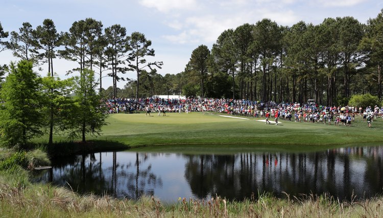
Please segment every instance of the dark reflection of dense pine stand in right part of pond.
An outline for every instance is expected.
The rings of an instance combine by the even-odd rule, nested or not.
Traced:
[[[201,199],[250,198],[252,193],[330,194],[350,200],[382,193],[382,147],[315,153],[240,153],[184,155],[185,178]]]

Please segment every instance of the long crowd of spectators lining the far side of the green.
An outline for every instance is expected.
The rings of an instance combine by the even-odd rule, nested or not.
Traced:
[[[383,117],[383,107],[323,106],[315,103],[276,103],[239,99],[216,98],[113,98],[105,100],[108,113],[135,113],[139,111],[188,113],[217,112],[234,116],[264,118],[270,117],[295,121],[335,125],[351,125],[355,115],[363,116],[364,121]],[[276,113],[278,113],[277,116]]]

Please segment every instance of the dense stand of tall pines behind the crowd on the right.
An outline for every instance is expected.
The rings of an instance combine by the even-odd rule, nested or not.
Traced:
[[[383,10],[362,24],[353,17],[281,26],[270,19],[221,33],[193,50],[183,72],[142,74],[144,92],[276,102],[346,105],[354,94],[382,98]],[[119,90],[132,96],[135,83]],[[111,90],[106,90],[109,94]]]

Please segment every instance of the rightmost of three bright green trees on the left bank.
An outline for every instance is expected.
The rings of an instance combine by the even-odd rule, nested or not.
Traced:
[[[97,86],[94,72],[83,69],[82,76],[76,79],[74,103],[66,115],[69,137],[73,139],[81,135],[83,143],[86,142],[86,134],[99,134],[101,127],[106,124],[105,108],[95,92]]]

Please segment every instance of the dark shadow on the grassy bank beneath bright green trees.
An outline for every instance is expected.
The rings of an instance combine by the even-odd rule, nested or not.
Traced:
[[[121,142],[106,140],[91,140],[82,142],[56,142],[53,145],[38,144],[36,148],[46,151],[50,156],[68,156],[100,151],[126,150],[130,146]]]

